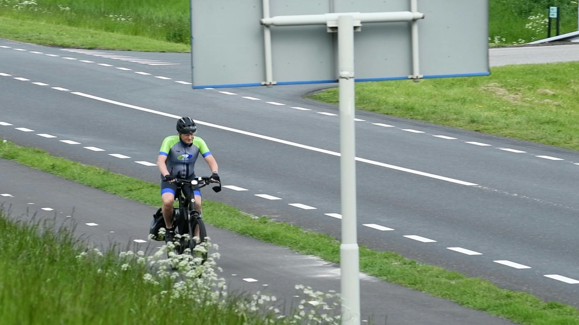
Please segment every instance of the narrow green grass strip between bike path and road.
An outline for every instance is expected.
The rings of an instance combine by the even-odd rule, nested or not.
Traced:
[[[160,206],[159,185],[83,165],[43,150],[0,144],[0,157],[121,197]],[[204,201],[204,219],[217,227],[339,262],[340,243],[329,235],[302,230],[267,217],[251,216],[218,202]],[[559,302],[544,302],[529,293],[500,289],[489,281],[408,260],[398,254],[360,246],[360,270],[389,282],[447,298],[522,324],[579,324],[579,310]]]

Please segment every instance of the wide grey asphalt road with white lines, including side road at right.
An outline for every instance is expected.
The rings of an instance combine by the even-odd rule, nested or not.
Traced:
[[[12,124],[0,125],[3,138],[155,182],[157,168],[142,164],[155,162],[175,117],[190,115],[225,184],[244,189],[207,198],[339,237],[338,112],[299,97],[320,86],[193,91],[187,54],[98,54],[180,63],[149,65],[0,46],[0,121]],[[545,49],[491,50],[491,63],[579,60],[576,45]],[[579,305],[576,152],[363,111],[357,118],[360,243]]]

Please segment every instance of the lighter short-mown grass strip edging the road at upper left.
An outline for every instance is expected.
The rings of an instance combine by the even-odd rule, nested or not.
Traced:
[[[145,36],[124,35],[0,16],[0,37],[39,45],[155,52],[190,52],[190,46]]]

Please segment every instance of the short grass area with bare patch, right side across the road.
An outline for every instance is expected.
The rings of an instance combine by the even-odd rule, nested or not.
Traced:
[[[579,62],[492,75],[356,84],[356,108],[579,150]],[[338,103],[338,88],[307,97]]]

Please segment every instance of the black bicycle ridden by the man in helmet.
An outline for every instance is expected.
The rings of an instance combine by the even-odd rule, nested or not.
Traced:
[[[188,179],[175,179],[175,184],[177,184],[177,191],[175,191],[175,201],[178,201],[177,208],[174,209],[171,224],[175,227],[175,239],[179,237],[179,243],[175,245],[173,249],[175,254],[182,254],[189,249],[189,254],[193,258],[201,257],[201,265],[207,261],[207,252],[199,253],[194,249],[201,242],[206,242],[207,231],[205,229],[205,224],[203,223],[203,218],[201,213],[195,209],[195,196],[193,195],[193,190],[205,187],[210,183],[218,183],[218,186],[212,187],[215,193],[221,191],[221,181],[212,182],[210,177],[196,177],[193,180]],[[182,188],[184,186],[190,186],[190,191],[188,197],[184,197]],[[199,233],[199,241],[194,238],[195,233]],[[189,238],[185,238],[185,235],[189,235]],[[167,257],[169,257],[169,252],[167,252]]]

